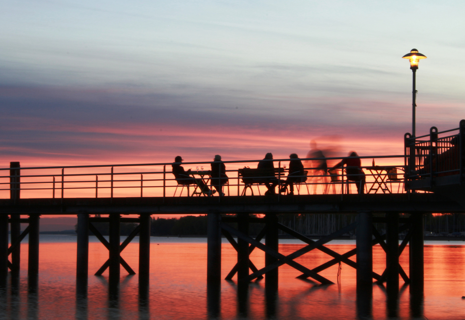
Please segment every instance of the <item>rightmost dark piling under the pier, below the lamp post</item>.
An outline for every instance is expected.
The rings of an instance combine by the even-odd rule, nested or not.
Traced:
[[[412,238],[410,238],[410,292],[423,294],[424,280],[424,258],[423,258],[423,214],[413,213],[412,219]]]

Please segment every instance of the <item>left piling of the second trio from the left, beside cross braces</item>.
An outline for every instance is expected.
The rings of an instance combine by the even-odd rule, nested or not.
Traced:
[[[89,273],[89,215],[78,213],[76,293],[86,296]]]

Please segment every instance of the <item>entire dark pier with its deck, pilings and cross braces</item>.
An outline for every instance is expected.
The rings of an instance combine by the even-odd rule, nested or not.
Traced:
[[[17,282],[20,269],[20,243],[21,240],[29,235],[28,246],[28,287],[29,291],[37,292],[38,275],[40,272],[39,266],[39,230],[40,216],[43,215],[77,215],[77,265],[76,265],[76,292],[80,299],[86,297],[87,279],[89,277],[88,259],[89,259],[89,231],[99,238],[103,245],[108,249],[108,260],[99,270],[91,271],[95,275],[101,275],[107,268],[109,269],[109,293],[111,299],[118,298],[118,286],[120,282],[120,266],[129,274],[135,274],[131,266],[121,258],[122,252],[126,246],[133,240],[136,235],[139,235],[139,280],[140,280],[140,297],[148,297],[148,281],[149,281],[149,266],[150,266],[150,216],[151,214],[173,214],[173,213],[191,213],[191,214],[206,214],[208,220],[208,245],[207,245],[207,300],[208,307],[212,314],[219,312],[219,292],[222,279],[221,275],[221,237],[228,239],[234,249],[237,251],[237,263],[231,266],[231,272],[228,273],[226,279],[232,279],[237,274],[238,277],[238,292],[240,299],[246,299],[248,283],[254,279],[265,278],[265,287],[267,299],[272,300],[278,289],[279,273],[278,268],[284,264],[292,266],[301,274],[298,278],[311,278],[312,281],[318,282],[321,285],[331,285],[333,282],[326,279],[319,272],[338,263],[345,263],[348,266],[356,269],[357,275],[357,296],[358,310],[360,316],[367,316],[371,313],[371,297],[373,281],[386,286],[388,296],[388,309],[395,310],[395,305],[399,296],[399,275],[403,281],[410,286],[412,299],[422,299],[424,288],[424,227],[423,215],[427,213],[465,213],[464,203],[457,195],[463,195],[463,155],[465,154],[463,132],[465,131],[465,122],[460,123],[458,128],[459,133],[455,136],[438,136],[440,132],[432,130],[426,141],[419,138],[410,138],[406,136],[405,143],[405,163],[398,167],[404,170],[405,178],[392,179],[397,183],[402,183],[403,188],[398,188],[399,192],[394,192],[386,184],[386,180],[382,180],[384,185],[375,180],[373,185],[377,184],[381,188],[371,188],[376,190],[375,193],[357,194],[349,193],[349,180],[344,180],[344,171],[341,172],[342,180],[340,180],[340,192],[333,194],[299,194],[299,195],[254,195],[243,196],[239,195],[242,187],[245,193],[247,188],[252,188],[250,180],[241,184],[239,170],[237,184],[230,183],[228,187],[236,186],[237,195],[232,195],[228,192],[227,196],[198,196],[194,197],[189,194],[184,197],[167,196],[167,189],[172,187],[178,188],[176,184],[169,185],[175,179],[167,177],[170,171],[166,171],[167,163],[153,164],[154,166],[162,167],[163,171],[152,170],[145,175],[162,175],[163,178],[143,179],[143,174],[140,172],[125,172],[116,173],[114,168],[116,165],[100,166],[102,168],[110,168],[110,173],[69,173],[64,174],[65,169],[79,168],[66,167],[61,169],[61,180],[56,181],[55,173],[39,175],[22,175],[23,170],[54,170],[56,167],[47,168],[20,168],[20,163],[12,162],[10,165],[9,174],[3,178],[9,179],[10,197],[0,199],[0,289],[7,287],[8,270],[11,271],[11,279]],[[445,131],[446,133],[451,130]],[[443,139],[439,141],[440,139]],[[454,140],[455,139],[455,140]],[[458,142],[460,148],[457,149]],[[429,143],[429,144],[428,144]],[[448,149],[445,145],[448,144]],[[418,146],[421,144],[420,146]],[[432,165],[435,163],[433,157],[439,159],[440,154],[438,148],[447,150],[455,150],[459,161],[456,163],[458,167],[450,165],[443,166],[441,170],[434,171]],[[429,148],[429,152],[425,152]],[[455,149],[454,149],[455,148]],[[412,155],[413,154],[413,155]],[[371,157],[369,157],[371,158]],[[426,159],[429,160],[426,162]],[[403,159],[403,160],[404,160]],[[455,159],[455,158],[454,158]],[[310,159],[311,160],[311,159]],[[276,160],[280,161],[285,159]],[[451,160],[452,161],[452,160]],[[233,163],[233,162],[229,162]],[[436,162],[438,163],[438,162]],[[239,162],[239,164],[241,164]],[[139,165],[142,166],[142,165]],[[83,170],[90,166],[82,167]],[[436,165],[438,167],[438,165]],[[94,167],[95,168],[95,167]],[[420,169],[419,169],[420,168]],[[428,171],[429,170],[429,171]],[[436,169],[437,170],[437,169]],[[230,170],[234,171],[234,170]],[[280,175],[280,170],[278,170]],[[446,175],[445,175],[446,173]],[[114,179],[114,176],[119,174],[132,175],[130,179],[121,180]],[[135,180],[132,177],[135,174],[140,174],[141,178]],[[385,175],[389,178],[389,173]],[[95,176],[95,197],[65,197],[64,192],[75,189],[91,189],[89,184],[93,184],[90,180],[72,180],[73,186],[66,187],[66,177],[88,177]],[[111,176],[110,179],[99,181],[99,175]],[[458,176],[458,177],[457,177]],[[53,177],[53,186],[50,181],[44,179]],[[378,179],[378,176],[375,178]],[[385,178],[386,178],[385,177]],[[445,183],[444,177],[448,177],[449,184]],[[33,179],[39,179],[34,182]],[[27,179],[27,181],[25,181]],[[381,177],[381,179],[384,179]],[[22,181],[21,181],[22,180]],[[121,188],[132,188],[132,183],[140,182],[139,197],[115,197],[114,189],[118,188],[117,183],[124,182]],[[144,181],[156,181],[158,184],[144,186]],[[321,182],[319,184],[330,183]],[[384,182],[383,182],[384,181]],[[434,182],[438,183],[434,183]],[[109,186],[102,186],[102,183],[109,183]],[[28,188],[31,184],[44,184],[46,187],[41,190],[53,191],[53,197],[42,198],[21,198],[20,192],[23,190],[37,190],[40,188]],[[82,187],[76,187],[76,184],[81,183]],[[111,183],[111,184],[110,184]],[[248,185],[247,185],[248,183]],[[59,187],[56,187],[59,184]],[[100,184],[100,187],[99,187]],[[310,182],[312,184],[312,182]],[[376,186],[376,185],[375,185]],[[384,188],[384,186],[386,188]],[[455,193],[441,192],[441,186],[455,190]],[[144,188],[162,188],[162,194],[156,197],[143,197]],[[260,186],[257,186],[260,188]],[[109,197],[98,197],[100,189],[110,189]],[[322,190],[328,190],[324,187]],[[334,184],[333,184],[334,189]],[[258,189],[260,191],[260,189]],[[307,189],[308,190],[308,189]],[[335,190],[335,189],[334,189]],[[382,193],[378,192],[383,191]],[[386,192],[389,191],[389,192]],[[55,197],[56,193],[61,197]],[[424,192],[427,191],[427,192]],[[182,192],[182,191],[181,191]],[[195,190],[193,191],[196,192]],[[308,192],[309,193],[309,192]],[[197,192],[199,195],[199,192]],[[331,234],[312,240],[306,235],[292,230],[286,225],[280,224],[277,218],[278,214],[289,213],[321,213],[321,214],[357,214],[355,222],[345,225],[340,230],[334,231]],[[106,214],[107,218],[91,217],[91,215]],[[138,218],[124,217],[128,214],[137,214]],[[261,218],[252,217],[251,214],[259,214]],[[21,218],[27,215],[28,218]],[[104,238],[95,228],[93,223],[105,222],[109,224],[109,241]],[[133,222],[138,223],[137,228],[126,238],[123,243],[120,243],[120,223]],[[256,238],[252,238],[249,234],[250,224],[259,223],[263,225],[263,229],[259,232]],[[379,234],[373,224],[384,224],[385,234]],[[20,232],[20,224],[27,224],[25,230]],[[10,228],[9,228],[10,226]],[[235,227],[237,226],[237,227]],[[11,245],[8,246],[8,231],[11,230]],[[278,250],[278,234],[283,231],[301,241],[306,246],[292,252],[288,255],[283,255]],[[343,234],[355,231],[356,248],[339,254],[325,246],[332,239],[338,238]],[[399,232],[406,232],[406,236],[399,245]],[[261,240],[265,239],[265,243]],[[237,239],[237,240],[236,240]],[[372,246],[381,245],[386,254],[386,268],[382,274],[373,272],[373,256]],[[399,264],[399,256],[404,251],[406,245],[410,247],[410,259],[408,270]],[[265,252],[265,267],[258,269],[249,259],[249,255],[253,250],[262,250]],[[308,269],[295,261],[296,258],[310,252],[312,250],[320,250],[332,257],[331,260],[313,269]],[[11,255],[11,261],[9,256]],[[356,256],[356,262],[349,259]],[[374,280],[373,280],[374,279]],[[12,286],[13,288],[14,286]],[[412,301],[413,301],[412,300]],[[418,301],[417,301],[418,302]],[[239,303],[240,305],[240,303]]]

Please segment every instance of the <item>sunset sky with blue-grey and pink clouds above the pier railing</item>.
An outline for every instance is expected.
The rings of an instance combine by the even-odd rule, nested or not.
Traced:
[[[462,1],[7,1],[1,167],[403,153],[465,118]]]

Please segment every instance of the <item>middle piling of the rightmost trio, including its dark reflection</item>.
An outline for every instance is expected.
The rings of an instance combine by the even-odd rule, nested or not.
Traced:
[[[399,297],[399,213],[386,214],[386,292],[387,315],[397,317]]]

